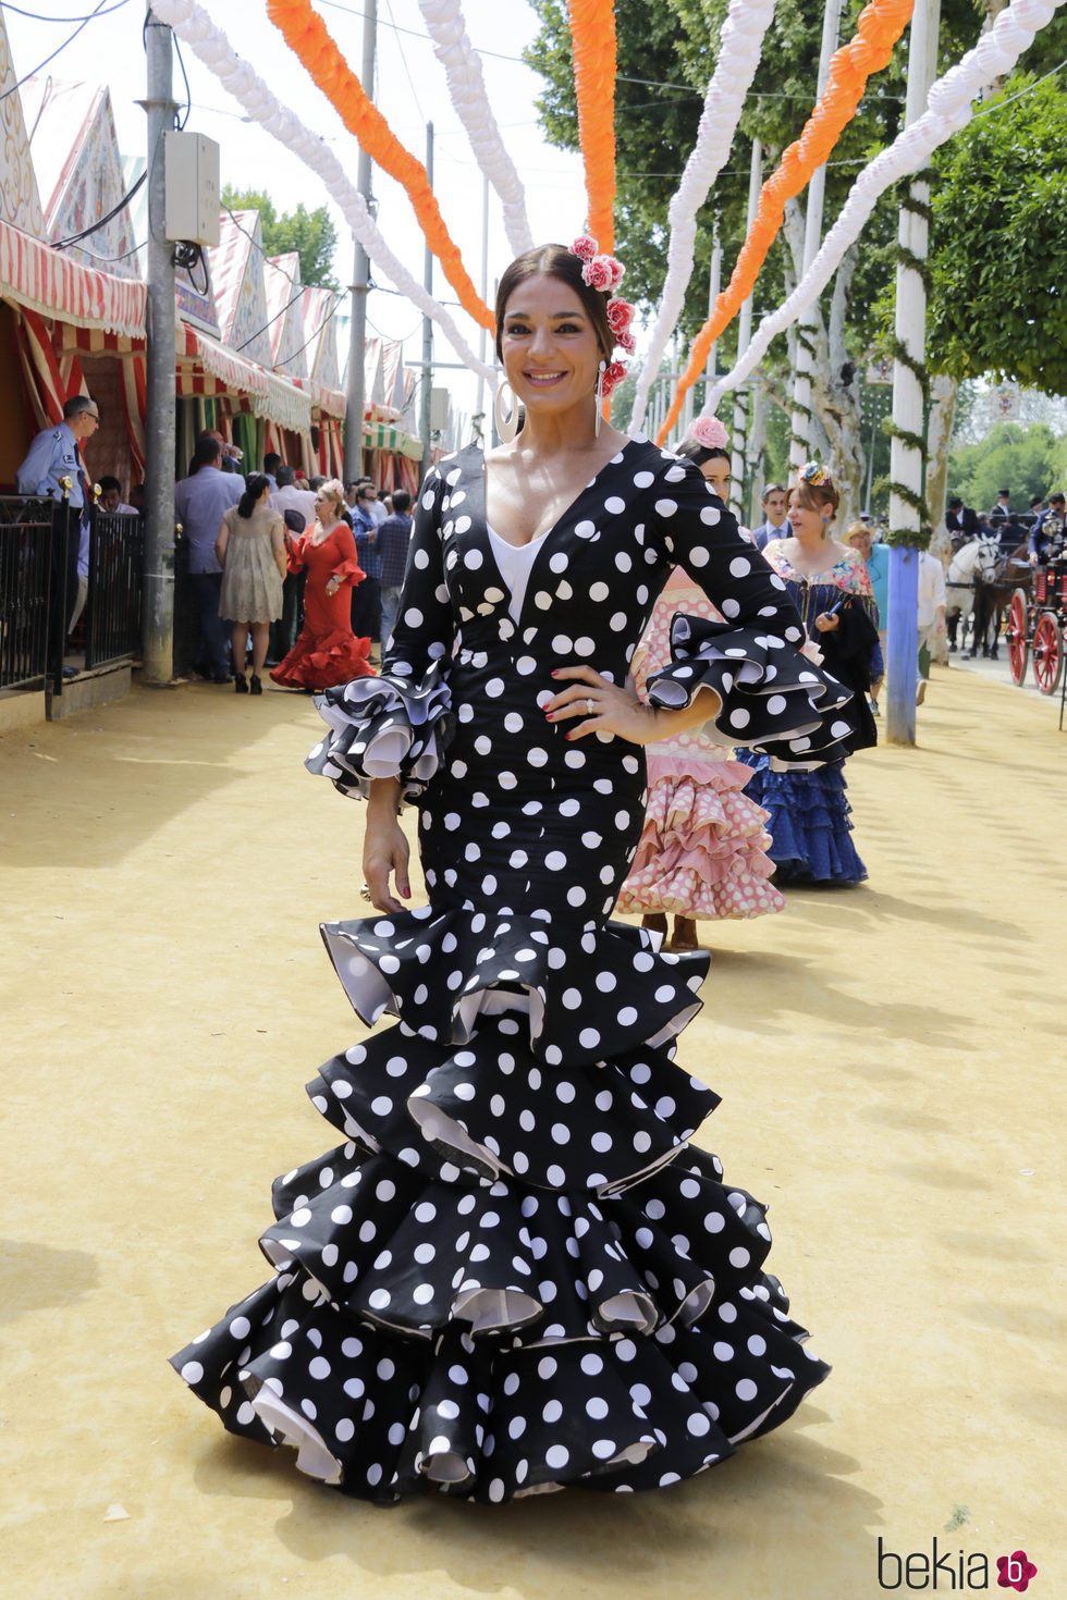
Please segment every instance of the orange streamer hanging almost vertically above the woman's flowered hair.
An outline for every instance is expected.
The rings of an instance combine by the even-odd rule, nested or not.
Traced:
[[[577,98],[577,139],[585,163],[587,229],[614,250],[614,3],[568,0]]]

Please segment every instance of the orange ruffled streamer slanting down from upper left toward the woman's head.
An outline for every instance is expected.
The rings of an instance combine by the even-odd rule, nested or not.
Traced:
[[[459,304],[477,323],[494,331],[493,312],[475,290],[459,250],[445,227],[426,166],[405,150],[379,109],[363,91],[363,85],[333,42],[330,30],[309,0],[267,0],[267,16],[280,30],[290,50],[302,61],[318,88],[339,114],[360,149],[378,162],[382,171],[403,184],[426,234],[426,242],[456,290]]]

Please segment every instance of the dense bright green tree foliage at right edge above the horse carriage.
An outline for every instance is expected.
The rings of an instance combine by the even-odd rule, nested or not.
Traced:
[[[1067,94],[1032,83],[1013,77],[939,155],[926,350],[953,378],[1067,394]]]

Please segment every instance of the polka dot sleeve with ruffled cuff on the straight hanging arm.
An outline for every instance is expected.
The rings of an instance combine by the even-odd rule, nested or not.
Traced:
[[[304,763],[341,794],[366,798],[374,778],[400,778],[416,800],[442,763],[453,733],[448,666],[453,614],[442,562],[443,480],[432,469],[411,531],[408,570],[381,675],[354,678],[315,696],[330,733]]]

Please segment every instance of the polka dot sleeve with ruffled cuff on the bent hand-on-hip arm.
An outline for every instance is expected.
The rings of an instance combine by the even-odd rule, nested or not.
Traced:
[[[782,579],[689,462],[665,458],[646,493],[648,534],[725,618],[673,618],[670,666],[648,678],[651,704],[680,709],[712,688],[723,702],[715,726],[726,742],[782,768],[841,760],[853,731],[841,710],[849,691],[801,656],[805,629]]]

